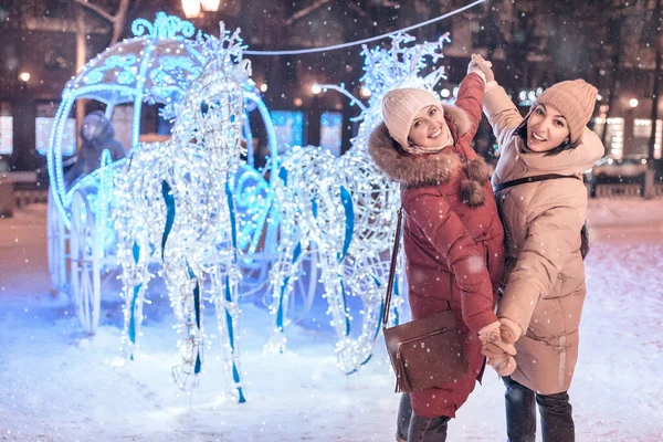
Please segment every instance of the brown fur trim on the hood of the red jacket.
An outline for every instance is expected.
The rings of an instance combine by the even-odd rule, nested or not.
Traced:
[[[470,118],[455,106],[443,106],[450,117],[446,123],[456,144],[470,129]],[[484,203],[484,187],[490,180],[490,171],[481,157],[462,162],[461,157],[450,149],[431,155],[409,155],[391,138],[383,123],[370,134],[368,154],[378,169],[402,187],[438,186],[459,177],[463,202],[470,207]]]

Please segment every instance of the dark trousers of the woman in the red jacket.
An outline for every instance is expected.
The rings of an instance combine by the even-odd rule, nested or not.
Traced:
[[[412,412],[410,394],[403,393],[398,408],[398,425],[396,434],[408,442],[444,442],[446,423],[451,418],[422,418]]]

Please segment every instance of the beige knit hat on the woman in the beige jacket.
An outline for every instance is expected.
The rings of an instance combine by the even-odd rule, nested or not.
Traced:
[[[571,143],[577,143],[593,114],[597,92],[597,88],[585,80],[560,82],[544,91],[532,108],[537,104],[557,108],[569,125]]]

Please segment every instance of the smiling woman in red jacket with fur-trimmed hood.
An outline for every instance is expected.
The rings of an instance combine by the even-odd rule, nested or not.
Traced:
[[[449,420],[482,378],[482,341],[497,340],[515,354],[499,340],[494,313],[504,232],[488,169],[470,146],[482,118],[484,86],[481,71],[469,73],[455,106],[423,90],[392,90],[382,103],[385,123],[369,139],[375,164],[402,189],[412,318],[451,308],[465,333],[470,365],[454,382],[402,396],[399,441],[445,440]],[[508,375],[514,365],[512,358],[496,369]]]

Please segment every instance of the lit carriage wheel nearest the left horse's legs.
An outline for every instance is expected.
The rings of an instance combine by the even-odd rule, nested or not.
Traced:
[[[72,201],[71,282],[76,315],[83,330],[96,333],[101,309],[101,254],[95,234],[94,213],[87,198],[76,192]]]

